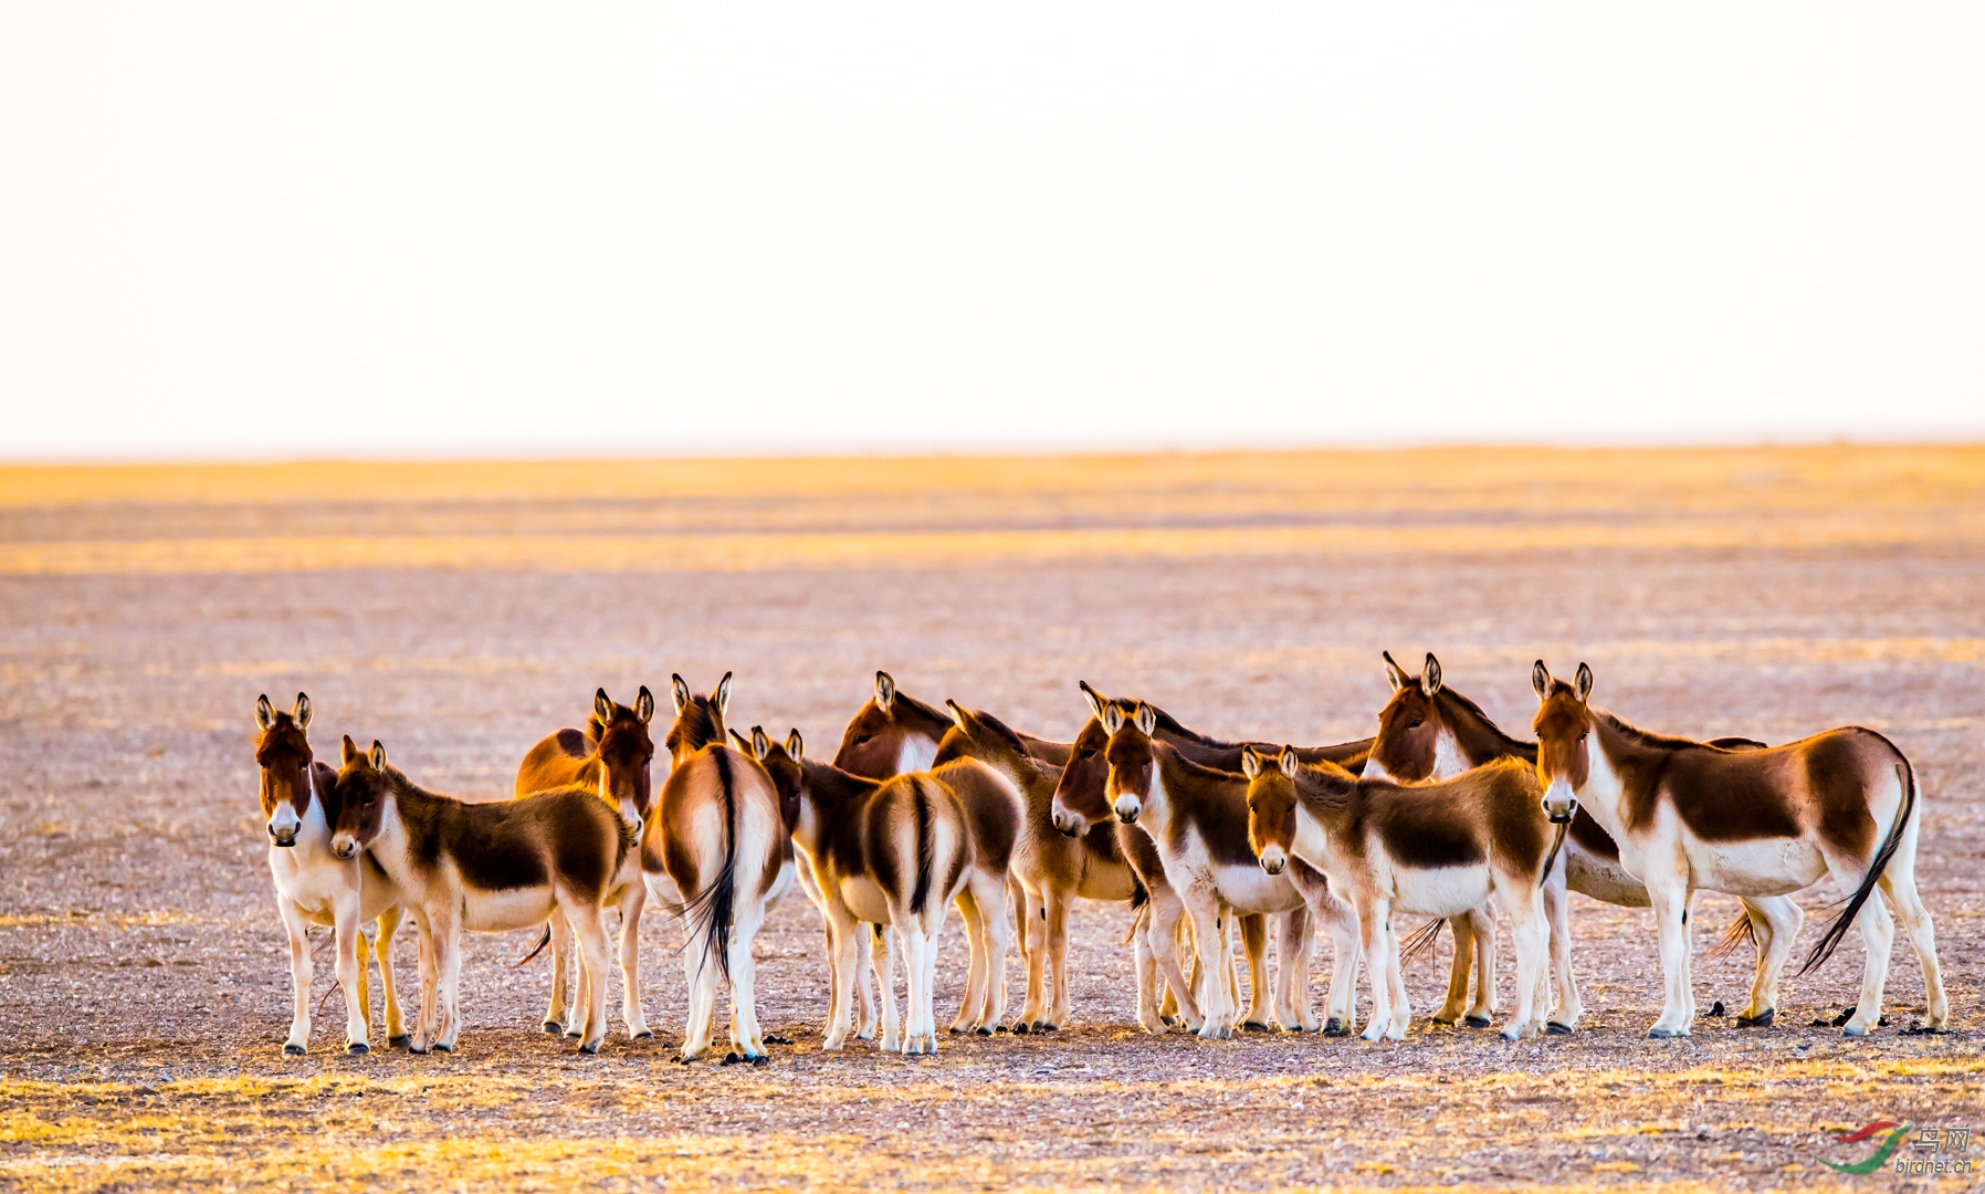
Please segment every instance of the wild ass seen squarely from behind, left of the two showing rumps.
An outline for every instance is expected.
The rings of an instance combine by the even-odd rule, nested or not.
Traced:
[[[723,981],[730,985],[725,1065],[756,1065],[766,1061],[766,1037],[758,1031],[750,946],[764,914],[792,890],[792,838],[764,769],[723,741],[730,673],[707,697],[691,693],[681,675],[669,683],[675,725],[663,743],[675,767],[641,834],[641,870],[657,896],[673,896],[671,904],[689,922],[683,946],[689,1025],[679,1061],[711,1051]]]

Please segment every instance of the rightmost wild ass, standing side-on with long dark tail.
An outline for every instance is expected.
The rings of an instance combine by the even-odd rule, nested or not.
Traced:
[[[1896,928],[1876,886],[1894,900],[1923,964],[1923,1027],[1943,1027],[1949,1005],[1935,930],[1916,892],[1921,799],[1894,743],[1850,725],[1783,747],[1727,751],[1636,729],[1592,705],[1584,664],[1564,683],[1538,660],[1530,683],[1546,801],[1576,799],[1588,809],[1618,842],[1620,864],[1648,888],[1667,987],[1650,1037],[1685,1037],[1695,1021],[1687,908],[1697,888],[1755,900],[1786,896],[1824,874],[1850,896],[1800,973],[1826,962],[1860,924],[1868,964],[1844,1033],[1866,1035],[1882,1019]]]

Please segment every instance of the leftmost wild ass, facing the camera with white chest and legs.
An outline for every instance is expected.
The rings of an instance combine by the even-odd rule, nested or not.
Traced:
[[[310,924],[328,924],[337,946],[337,985],[345,991],[345,1051],[365,1053],[371,999],[365,991],[365,934],[379,922],[379,983],[385,987],[385,1035],[389,1045],[407,1041],[401,1025],[399,993],[393,989],[393,934],[399,930],[399,892],[369,858],[353,860],[331,852],[337,824],[337,773],[310,753],[310,697],[296,693],[288,713],[256,697],[254,721],[260,735],[254,761],[262,769],[262,821],[268,828],[268,872],[276,880],[276,912],[290,932],[290,985],[296,1011],[284,1053],[310,1047]]]

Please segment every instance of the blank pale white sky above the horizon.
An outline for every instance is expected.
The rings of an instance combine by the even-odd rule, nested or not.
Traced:
[[[0,6],[0,457],[1985,437],[1985,4]]]

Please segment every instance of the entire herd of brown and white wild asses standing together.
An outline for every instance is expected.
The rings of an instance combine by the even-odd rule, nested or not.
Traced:
[[[1836,1023],[1850,1037],[1882,1023],[1894,922],[1874,898],[1880,886],[1923,966],[1923,1027],[1943,1027],[1935,940],[1916,892],[1921,799],[1910,761],[1880,733],[1830,729],[1781,747],[1663,737],[1594,705],[1584,664],[1566,683],[1538,662],[1536,737],[1521,741],[1449,689],[1433,656],[1419,675],[1384,660],[1393,693],[1378,737],[1336,747],[1211,739],[1088,683],[1088,723],[1076,741],[1054,743],[955,701],[917,701],[879,672],[832,763],[810,759],[798,731],[778,741],[752,727],[727,741],[730,677],[699,695],[677,675],[659,795],[655,699],[643,687],[633,705],[599,691],[586,729],[532,747],[516,799],[500,803],[431,793],[377,741],[359,749],[349,735],[333,771],[306,737],[310,697],[298,693],[280,711],[264,695],[256,763],[296,989],[284,1051],[302,1053],[310,1041],[310,924],[333,930],[353,1053],[369,1039],[371,958],[387,1037],[415,1053],[451,1051],[463,1023],[463,932],[532,926],[546,926],[540,950],[550,944],[552,954],[544,1031],[597,1051],[607,1027],[607,908],[619,910],[627,1033],[653,1037],[637,981],[641,912],[653,900],[685,924],[681,1059],[711,1053],[727,985],[725,1061],[764,1061],[768,1043],[790,1041],[758,1027],[752,938],[794,882],[826,922],[826,1049],[877,1031],[883,1049],[937,1049],[933,981],[949,906],[971,950],[951,1031],[1006,1029],[1014,930],[1026,999],[1012,1031],[1068,1023],[1068,912],[1078,896],[1137,910],[1137,1023],[1209,1039],[1270,1025],[1348,1035],[1360,970],[1372,993],[1364,1039],[1401,1039],[1409,1007],[1395,914],[1431,918],[1407,938],[1407,956],[1441,924],[1453,930],[1447,999],[1433,1019],[1487,1025],[1501,912],[1515,934],[1515,1007],[1503,1027],[1515,1041],[1578,1023],[1568,892],[1654,910],[1665,1001],[1650,1035],[1685,1037],[1695,1019],[1689,904],[1701,888],[1729,892],[1743,916],[1719,950],[1745,938],[1757,948],[1737,1023],[1769,1025],[1804,922],[1790,896],[1826,874],[1850,896],[1804,970],[1850,928],[1868,946],[1860,997]],[[409,916],[421,960],[411,1039],[391,966],[393,934]],[[377,934],[367,940],[361,926],[371,922]],[[1334,948],[1322,1021],[1308,983],[1318,926]],[[1249,968],[1245,1009],[1235,934]],[[877,970],[879,991],[869,983]]]

